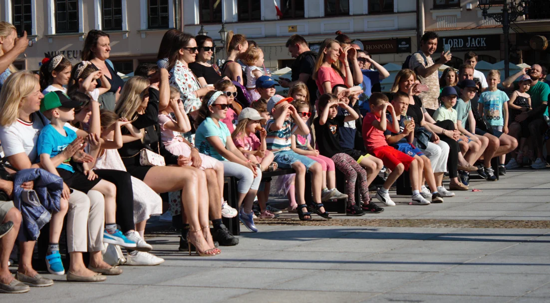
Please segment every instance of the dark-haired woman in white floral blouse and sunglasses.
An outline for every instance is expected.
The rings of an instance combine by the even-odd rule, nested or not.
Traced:
[[[201,88],[199,80],[189,68],[189,63],[195,62],[198,49],[195,37],[186,32],[179,32],[175,35],[168,57],[168,66],[173,67],[170,70],[170,85],[178,87],[185,113],[199,109],[201,98],[214,90],[213,86]]]

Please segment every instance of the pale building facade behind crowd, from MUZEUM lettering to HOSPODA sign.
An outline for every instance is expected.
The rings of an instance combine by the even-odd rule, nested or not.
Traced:
[[[338,30],[362,41],[378,62],[400,64],[417,48],[416,7],[413,0],[0,0],[0,19],[33,41],[18,68],[38,70],[44,57],[59,53],[77,63],[86,33],[99,29],[110,35],[117,69],[129,73],[156,59],[167,29],[196,35],[203,25],[220,46],[223,23],[255,40],[273,70],[292,63],[284,47],[290,35],[316,45]]]

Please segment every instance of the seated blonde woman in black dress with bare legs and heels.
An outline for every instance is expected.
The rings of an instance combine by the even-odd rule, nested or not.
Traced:
[[[160,102],[170,97],[168,89],[168,71],[160,70],[161,82],[159,87]],[[141,140],[125,142],[118,152],[128,173],[133,177],[144,181],[152,190],[161,194],[170,191],[182,191],[186,199],[182,200],[182,207],[185,211],[185,218],[189,222],[189,229],[182,229],[182,235],[193,244],[200,256],[215,256],[221,251],[213,244],[210,228],[208,227],[208,203],[209,197],[217,199],[216,210],[219,210],[221,218],[221,207],[217,196],[219,189],[214,182],[208,185],[216,185],[215,190],[207,187],[207,173],[195,167],[188,166],[189,158],[174,156],[166,151],[160,138],[157,135],[158,129],[158,104],[149,102],[149,80],[141,76],[130,78],[124,85],[120,95],[120,102],[117,103],[115,112],[120,118],[126,118],[132,122],[135,128],[141,130],[144,135]],[[124,130],[126,134],[128,130]],[[164,156],[167,166],[142,166],[140,164],[140,151],[146,148]],[[195,161],[193,161],[195,164]],[[168,165],[173,166],[168,166]],[[212,171],[213,172],[213,171]],[[210,179],[212,177],[208,177]],[[184,218],[184,219],[185,219]],[[191,245],[189,245],[191,247]],[[189,251],[190,252],[190,251]]]

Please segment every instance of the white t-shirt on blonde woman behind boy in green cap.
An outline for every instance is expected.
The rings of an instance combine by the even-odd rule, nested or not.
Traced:
[[[5,157],[24,152],[31,163],[36,162],[36,141],[45,125],[37,113],[33,113],[31,117],[32,123],[17,119],[12,125],[0,126],[0,142]]]

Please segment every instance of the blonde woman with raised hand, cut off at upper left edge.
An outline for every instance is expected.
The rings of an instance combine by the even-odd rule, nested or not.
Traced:
[[[13,24],[0,21],[0,90],[9,75],[17,71],[12,63],[27,46],[29,46],[29,39],[26,31],[23,32],[22,37],[18,38]]]

